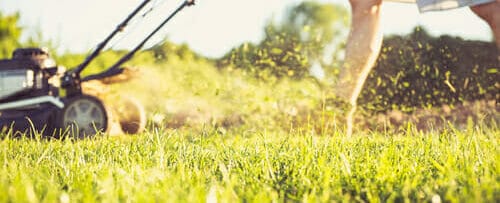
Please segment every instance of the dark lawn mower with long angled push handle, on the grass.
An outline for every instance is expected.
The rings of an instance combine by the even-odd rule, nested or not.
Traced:
[[[0,132],[77,138],[91,137],[109,128],[110,114],[103,102],[82,91],[82,83],[123,73],[129,61],[168,21],[194,0],[185,0],[139,45],[105,71],[81,77],[94,60],[151,0],[143,1],[77,67],[64,70],[56,65],[47,49],[20,48],[11,59],[0,60]],[[2,130],[3,129],[3,130]]]

